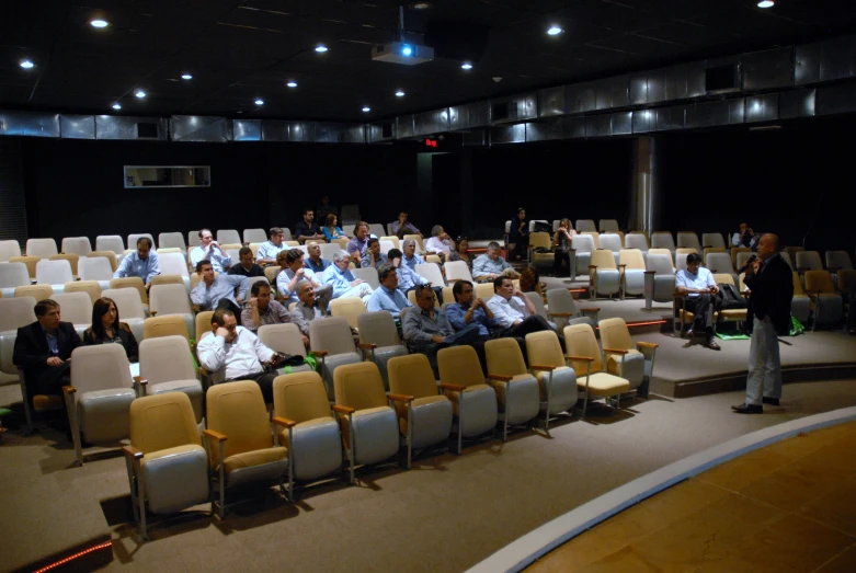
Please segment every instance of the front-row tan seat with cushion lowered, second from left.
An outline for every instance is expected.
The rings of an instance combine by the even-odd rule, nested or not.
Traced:
[[[206,393],[207,429],[203,432],[213,475],[214,507],[220,519],[229,505],[226,490],[253,482],[276,482],[288,495],[284,483],[288,473],[288,450],[278,446],[274,435],[294,423],[270,417],[262,390],[252,380],[218,383]],[[275,429],[272,434],[272,425]]]

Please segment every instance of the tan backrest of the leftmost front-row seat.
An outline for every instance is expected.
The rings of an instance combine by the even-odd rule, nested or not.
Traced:
[[[184,445],[199,446],[199,429],[187,394],[163,392],[134,400],[130,445],[144,455]]]

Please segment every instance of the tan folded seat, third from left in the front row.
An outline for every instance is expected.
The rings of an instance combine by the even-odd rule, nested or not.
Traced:
[[[292,480],[310,481],[342,469],[342,435],[316,371],[277,376],[273,382],[274,415],[294,422],[277,433],[288,448]],[[288,492],[294,501],[294,483]]]

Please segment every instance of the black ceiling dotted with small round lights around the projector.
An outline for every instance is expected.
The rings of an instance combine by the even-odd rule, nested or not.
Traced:
[[[395,0],[7,0],[0,106],[129,115],[370,121],[638,69],[810,42],[856,26],[852,0],[433,0],[404,27],[487,33],[470,71],[373,61]],[[407,2],[406,2],[407,3]],[[103,18],[111,25],[89,25]],[[550,24],[559,36],[545,32]],[[466,28],[465,28],[466,30]],[[313,48],[323,43],[327,54]],[[24,70],[23,59],[35,68]],[[183,72],[193,79],[180,79]],[[492,78],[501,77],[501,82]],[[286,81],[298,82],[296,89]],[[134,98],[145,89],[145,100]],[[402,89],[404,98],[396,98]],[[253,104],[264,100],[264,106]],[[369,105],[372,112],[361,108]]]

